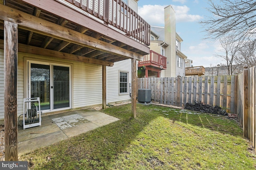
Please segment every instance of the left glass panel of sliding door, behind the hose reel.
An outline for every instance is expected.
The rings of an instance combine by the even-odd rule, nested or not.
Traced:
[[[31,63],[31,97],[40,97],[41,110],[50,110],[50,65]]]

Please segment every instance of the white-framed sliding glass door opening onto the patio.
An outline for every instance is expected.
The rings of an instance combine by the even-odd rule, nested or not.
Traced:
[[[70,66],[29,62],[29,97],[40,97],[41,110],[70,108]]]

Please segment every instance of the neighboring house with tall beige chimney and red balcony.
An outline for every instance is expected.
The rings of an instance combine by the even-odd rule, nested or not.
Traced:
[[[150,51],[157,57],[150,57],[150,62],[153,63],[151,65],[146,62],[149,61],[149,55],[144,57],[144,61],[139,61],[139,77],[185,76],[187,57],[181,52],[183,40],[176,33],[175,11],[172,6],[164,8],[164,23],[164,27],[151,26]]]

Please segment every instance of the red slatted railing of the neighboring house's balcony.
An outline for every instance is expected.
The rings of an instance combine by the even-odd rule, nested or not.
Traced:
[[[143,61],[139,61],[138,64],[146,64],[146,63],[153,63],[159,66],[162,66],[162,68],[166,68],[166,57],[164,55],[161,55],[155,51],[150,50],[150,54],[144,55]]]

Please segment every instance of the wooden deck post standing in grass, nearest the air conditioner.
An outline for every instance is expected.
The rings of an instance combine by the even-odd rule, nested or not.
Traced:
[[[137,105],[137,69],[136,59],[132,59],[132,117],[136,118]]]

